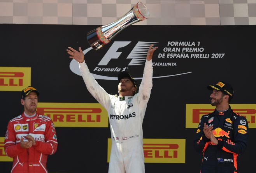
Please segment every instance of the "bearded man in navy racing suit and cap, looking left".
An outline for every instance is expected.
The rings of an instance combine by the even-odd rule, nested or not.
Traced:
[[[194,140],[196,151],[203,152],[201,173],[237,173],[237,156],[247,147],[246,118],[230,107],[233,87],[220,81],[207,87],[214,112],[203,115]]]

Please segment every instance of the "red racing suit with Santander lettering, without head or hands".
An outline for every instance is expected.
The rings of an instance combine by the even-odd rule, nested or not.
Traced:
[[[20,146],[23,136],[31,135],[35,146],[29,149]],[[47,173],[47,155],[54,154],[58,142],[51,118],[36,114],[28,118],[22,113],[9,121],[5,134],[4,149],[13,158],[11,173]]]

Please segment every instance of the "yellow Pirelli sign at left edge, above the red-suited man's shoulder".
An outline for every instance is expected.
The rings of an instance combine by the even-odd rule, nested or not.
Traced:
[[[0,67],[0,91],[21,91],[31,85],[31,67]]]

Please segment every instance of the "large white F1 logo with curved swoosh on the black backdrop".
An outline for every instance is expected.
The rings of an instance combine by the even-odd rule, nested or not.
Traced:
[[[95,79],[103,80],[117,80],[117,75],[121,71],[136,72],[139,76],[134,76],[134,79],[142,79],[144,64],[146,62],[147,50],[149,46],[153,44],[157,46],[158,42],[146,42],[138,41],[132,43],[131,41],[114,41],[110,48],[95,51],[89,47],[83,51],[85,62]],[[156,50],[157,51],[157,50]],[[158,62],[161,58],[158,58],[157,53],[153,55],[153,69],[159,71],[161,74],[156,74],[153,78],[163,78],[176,75],[184,75],[192,72],[173,73],[172,66],[177,66],[176,62]],[[79,63],[76,60],[70,62],[70,70],[81,76],[79,70]],[[165,70],[168,69],[168,70]],[[153,74],[154,75],[154,74]]]

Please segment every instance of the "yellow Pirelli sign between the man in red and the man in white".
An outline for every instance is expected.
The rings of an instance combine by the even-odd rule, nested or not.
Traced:
[[[99,103],[38,103],[37,111],[56,127],[108,127],[107,111]]]

